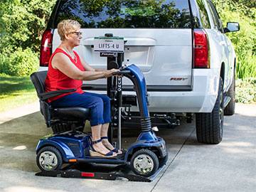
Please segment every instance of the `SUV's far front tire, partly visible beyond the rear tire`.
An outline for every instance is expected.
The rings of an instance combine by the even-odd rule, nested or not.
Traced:
[[[230,88],[226,94],[228,97],[231,98],[230,102],[228,105],[225,107],[224,114],[225,115],[233,115],[235,114],[235,73],[233,77],[233,82],[230,85]]]

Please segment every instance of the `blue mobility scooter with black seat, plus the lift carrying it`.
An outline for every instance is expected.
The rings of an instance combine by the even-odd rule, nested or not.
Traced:
[[[111,40],[112,37],[105,39]],[[106,50],[104,51],[106,52]],[[104,51],[100,51],[101,55],[104,55]],[[40,100],[41,113],[46,119],[47,127],[53,129],[53,135],[43,137],[36,147],[36,162],[39,169],[41,169],[41,173],[36,175],[112,180],[121,176],[128,178],[130,181],[152,181],[166,164],[168,154],[164,139],[156,137],[151,127],[144,75],[137,65],[122,66],[124,53],[119,52],[121,53],[107,50],[106,54],[107,68],[119,68],[119,72],[116,74],[118,76],[113,76],[107,80],[107,94],[112,102],[112,116],[117,117],[112,119],[113,121],[110,124],[110,142],[112,142],[115,125],[118,131],[117,146],[121,149],[121,109],[124,107],[122,106],[123,77],[132,80],[134,90],[137,93],[141,116],[141,133],[137,141],[129,145],[122,155],[112,159],[90,156],[91,135],[82,132],[85,121],[90,118],[90,110],[81,107],[51,107],[47,102],[48,98],[74,90],[44,92],[44,80],[47,72],[33,73],[31,80],[36,87]],[[68,164],[68,168],[63,164]],[[79,166],[82,167],[82,165],[83,168],[80,169]],[[93,165],[92,169],[95,170],[97,170],[95,165],[107,165],[112,168],[114,165],[114,169],[111,168],[107,173],[103,173],[102,169],[100,169],[101,172],[95,172],[95,170],[88,172],[90,165]],[[119,170],[117,171],[116,168]],[[120,171],[122,174],[120,174]]]

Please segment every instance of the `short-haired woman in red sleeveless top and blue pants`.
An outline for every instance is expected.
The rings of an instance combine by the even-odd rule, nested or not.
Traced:
[[[58,23],[60,46],[50,58],[46,77],[46,92],[76,88],[75,92],[65,93],[51,98],[48,102],[53,107],[86,107],[90,108],[92,129],[91,156],[113,157],[122,151],[114,149],[107,139],[107,129],[111,121],[110,98],[81,89],[82,80],[109,78],[116,69],[95,70],[79,57],[73,48],[80,45],[82,33],[80,23],[63,20]]]

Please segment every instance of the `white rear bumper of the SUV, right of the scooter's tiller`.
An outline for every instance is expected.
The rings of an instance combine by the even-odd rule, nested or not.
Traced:
[[[211,112],[218,96],[219,71],[194,69],[186,92],[148,92],[150,112]]]

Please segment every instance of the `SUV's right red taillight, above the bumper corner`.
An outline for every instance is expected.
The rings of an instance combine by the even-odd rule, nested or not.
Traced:
[[[210,68],[208,39],[205,31],[194,29],[194,68]]]

